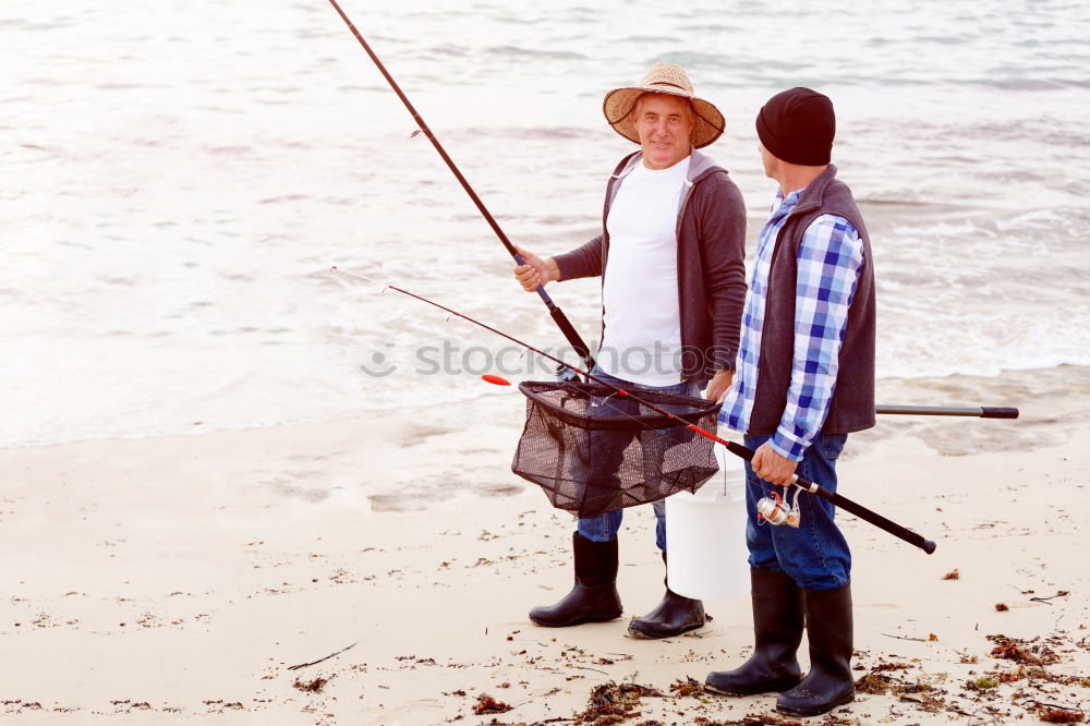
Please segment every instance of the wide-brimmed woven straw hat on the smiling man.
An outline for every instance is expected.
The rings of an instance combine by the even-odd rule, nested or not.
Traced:
[[[635,108],[637,99],[646,93],[669,94],[692,101],[693,108],[697,109],[692,145],[697,148],[707,146],[718,138],[727,124],[726,119],[719,113],[719,109],[693,95],[689,76],[685,74],[680,65],[655,63],[638,85],[610,90],[602,102],[602,110],[605,112],[609,125],[621,136],[637,144],[640,143],[640,136],[635,133],[635,124],[632,123],[629,114]]]

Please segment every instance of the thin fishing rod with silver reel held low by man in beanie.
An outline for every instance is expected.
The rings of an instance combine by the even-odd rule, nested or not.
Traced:
[[[449,307],[447,307],[445,305],[440,305],[439,303],[437,303],[437,302],[435,302],[433,300],[428,300],[427,298],[423,298],[423,297],[417,295],[417,294],[415,294],[413,292],[409,292],[408,290],[403,290],[403,289],[401,289],[401,288],[399,288],[397,286],[387,285],[386,287],[389,290],[395,290],[397,292],[400,292],[403,295],[408,295],[410,298],[415,298],[416,300],[420,300],[421,302],[425,302],[428,305],[433,305],[435,307],[438,307],[441,311],[450,313],[451,315],[460,317],[463,320],[468,320],[468,322],[472,323],[473,325],[482,327],[485,330],[488,330],[489,332],[495,332],[497,336],[500,336],[502,338],[507,338],[511,342],[513,342],[513,343],[516,343],[518,346],[521,346],[522,348],[525,348],[526,350],[529,350],[531,352],[537,353],[538,355],[541,355],[543,358],[546,358],[546,359],[553,361],[554,363],[557,363],[558,365],[561,365],[561,366],[570,370],[572,373],[576,373],[577,375],[584,376],[588,379],[593,380],[596,384],[606,386],[607,388],[611,388],[613,390],[617,391],[617,394],[619,396],[621,396],[623,398],[627,398],[629,400],[635,401],[640,406],[645,406],[646,408],[651,409],[655,413],[658,413],[659,415],[664,415],[664,416],[666,416],[669,420],[680,422],[681,425],[686,426],[690,431],[692,431],[692,432],[694,432],[697,434],[700,434],[701,436],[704,436],[705,438],[710,438],[713,441],[715,441],[716,444],[722,444],[723,446],[727,447],[728,451],[730,451],[731,453],[734,453],[736,456],[741,457],[742,459],[746,459],[747,461],[752,461],[753,460],[753,453],[754,453],[754,451],[752,449],[747,448],[744,446],[741,446],[740,444],[735,444],[734,441],[728,441],[725,438],[720,438],[720,437],[716,436],[715,434],[713,434],[712,432],[705,431],[705,429],[701,428],[700,426],[697,426],[695,424],[691,424],[688,421],[685,421],[683,419],[681,419],[680,416],[677,416],[677,415],[670,413],[669,411],[666,411],[665,409],[658,408],[657,406],[655,406],[655,404],[653,404],[653,403],[651,403],[651,402],[649,402],[649,401],[640,398],[635,394],[629,392],[629,391],[625,390],[623,388],[619,388],[619,387],[610,384],[607,380],[604,380],[604,379],[602,379],[602,378],[600,378],[600,377],[597,377],[595,375],[592,375],[588,371],[580,371],[579,368],[577,368],[576,366],[571,365],[570,363],[566,363],[565,361],[561,361],[558,358],[549,355],[548,353],[534,348],[530,343],[525,343],[525,342],[519,340],[518,338],[513,338],[513,337],[507,335],[502,330],[497,330],[496,328],[494,328],[494,327],[492,327],[489,325],[485,325],[484,323],[482,323],[480,320],[473,319],[469,315],[463,315],[462,313],[459,313],[456,310],[451,310],[451,308],[449,308]],[[837,506],[837,507],[839,507],[839,508],[841,508],[841,509],[844,509],[846,511],[851,512],[852,515],[859,517],[862,520],[865,520],[865,521],[870,522],[871,524],[877,527],[879,529],[885,530],[886,532],[888,532],[889,534],[894,535],[895,537],[904,540],[908,544],[913,545],[916,547],[919,547],[920,549],[922,549],[923,552],[928,553],[929,555],[935,550],[935,543],[932,542],[931,540],[923,539],[923,536],[920,535],[920,534],[918,534],[917,532],[912,532],[911,530],[908,530],[908,529],[901,527],[900,524],[897,524],[896,522],[886,519],[885,517],[883,517],[882,515],[879,515],[877,512],[871,511],[867,507],[863,507],[862,505],[859,505],[859,504],[852,501],[851,499],[848,499],[847,497],[845,497],[845,496],[843,496],[840,494],[837,494],[836,492],[829,492],[828,489],[826,489],[826,488],[824,488],[824,487],[815,484],[814,482],[811,482],[811,481],[809,481],[807,479],[803,479],[802,476],[799,476],[798,474],[795,474],[792,476],[791,483],[794,485],[798,486],[800,489],[809,492],[810,494],[819,496],[819,497],[821,497],[823,499],[826,499],[827,501],[833,503],[833,505],[835,505],[835,506]],[[777,500],[778,500],[778,497],[777,497]],[[778,523],[778,522],[773,522],[773,523]]]

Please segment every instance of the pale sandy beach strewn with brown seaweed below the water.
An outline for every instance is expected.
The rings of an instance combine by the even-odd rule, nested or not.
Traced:
[[[1085,719],[1088,371],[879,394],[1022,416],[884,416],[849,441],[840,492],[938,548],[843,518],[860,692],[814,723]],[[532,626],[570,585],[572,522],[508,469],[521,398],[428,421],[0,451],[4,723],[787,723],[773,697],[688,680],[748,655],[748,598],[681,638],[626,636],[662,594],[650,508],[621,533],[625,617]]]

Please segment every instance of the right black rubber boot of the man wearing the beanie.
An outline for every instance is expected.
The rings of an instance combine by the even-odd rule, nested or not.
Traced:
[[[807,590],[810,673],[776,699],[776,711],[816,716],[856,698],[851,677],[851,584],[837,590]]]

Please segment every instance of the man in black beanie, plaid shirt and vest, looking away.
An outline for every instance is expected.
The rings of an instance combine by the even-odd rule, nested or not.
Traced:
[[[765,173],[779,182],[761,230],[734,387],[719,423],[755,449],[746,464],[753,655],[707,676],[711,690],[779,691],[776,709],[815,716],[851,701],[848,543],[825,499],[788,487],[796,473],[836,491],[847,435],[874,425],[874,268],[862,216],[829,164],[832,101],[809,88],[773,96],[756,118]],[[756,513],[786,499],[788,521]],[[797,658],[803,624],[806,678]]]

